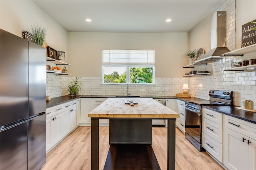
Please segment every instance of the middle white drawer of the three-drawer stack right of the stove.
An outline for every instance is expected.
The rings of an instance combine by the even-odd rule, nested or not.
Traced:
[[[219,143],[222,143],[222,125],[203,117],[202,131]]]

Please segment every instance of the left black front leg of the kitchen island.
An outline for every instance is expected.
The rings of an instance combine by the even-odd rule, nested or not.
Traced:
[[[99,170],[99,119],[91,118],[91,170]]]

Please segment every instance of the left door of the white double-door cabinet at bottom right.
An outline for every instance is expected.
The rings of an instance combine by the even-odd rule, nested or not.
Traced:
[[[224,165],[230,170],[248,170],[247,140],[243,142],[246,137],[226,127],[224,133]]]

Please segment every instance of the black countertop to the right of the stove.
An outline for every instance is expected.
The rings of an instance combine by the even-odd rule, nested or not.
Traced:
[[[202,106],[202,107],[256,124],[256,112],[236,109],[236,107],[238,106]]]

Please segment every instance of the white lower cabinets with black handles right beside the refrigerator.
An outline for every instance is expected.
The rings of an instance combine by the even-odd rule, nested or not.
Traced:
[[[62,109],[63,108],[63,111]],[[56,111],[56,109],[58,109]],[[76,128],[76,100],[46,109],[46,152]]]

